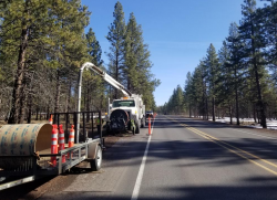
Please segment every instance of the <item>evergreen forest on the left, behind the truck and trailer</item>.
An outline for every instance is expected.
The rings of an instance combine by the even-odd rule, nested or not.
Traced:
[[[76,110],[79,69],[92,62],[155,107],[160,85],[134,13],[127,21],[120,2],[106,30],[109,63],[81,0],[0,0],[0,119],[9,124]],[[109,24],[106,24],[109,25]],[[81,110],[107,109],[107,98],[123,95],[94,73],[84,72]]]

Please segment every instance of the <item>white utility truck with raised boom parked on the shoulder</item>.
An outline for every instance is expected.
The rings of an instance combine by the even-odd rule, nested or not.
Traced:
[[[112,102],[111,109],[109,99],[106,130],[112,134],[125,130],[131,130],[133,134],[140,134],[140,128],[145,126],[145,105],[143,104],[142,95],[132,94],[116,80],[114,80],[103,70],[99,69],[98,66],[95,66],[93,63],[90,62],[84,63],[80,69],[80,75],[79,75],[80,94],[79,94],[78,110],[80,112],[81,107],[81,82],[84,69],[89,69],[95,72],[104,81],[110,83],[112,86],[114,86],[125,95],[120,99],[114,99]],[[79,127],[76,133],[79,133]]]

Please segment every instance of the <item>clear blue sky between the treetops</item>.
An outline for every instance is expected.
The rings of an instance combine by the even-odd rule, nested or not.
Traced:
[[[90,25],[100,42],[105,65],[110,43],[105,39],[113,22],[117,0],[82,0],[92,12]],[[148,44],[152,73],[162,84],[154,92],[156,105],[164,105],[181,85],[187,72],[193,72],[205,57],[211,43],[216,51],[228,35],[232,22],[242,19],[243,0],[121,0],[125,20],[134,12],[142,25],[144,42]],[[257,0],[258,7],[265,2]]]

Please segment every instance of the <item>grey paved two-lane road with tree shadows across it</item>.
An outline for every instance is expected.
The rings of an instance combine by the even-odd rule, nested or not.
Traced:
[[[157,116],[146,134],[105,151],[101,172],[40,200],[277,199],[277,135],[181,116]]]

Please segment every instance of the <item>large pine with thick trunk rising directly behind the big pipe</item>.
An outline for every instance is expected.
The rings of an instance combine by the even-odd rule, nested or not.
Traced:
[[[9,123],[22,123],[23,103],[25,99],[25,72],[28,50],[34,43],[41,42],[39,35],[45,35],[49,30],[48,1],[9,1],[0,10],[2,17],[1,40],[3,56],[16,55],[17,73],[12,94],[12,108]]]

